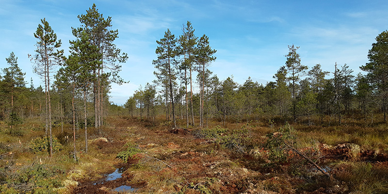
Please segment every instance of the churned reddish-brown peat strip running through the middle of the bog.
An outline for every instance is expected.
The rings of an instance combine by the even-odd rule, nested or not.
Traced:
[[[129,159],[127,163],[99,158],[116,162],[115,167],[123,170],[122,177],[110,181],[105,181],[105,177],[98,181],[81,181],[74,194],[115,194],[118,192],[113,189],[122,185],[136,188],[135,193],[348,194],[352,191],[347,183],[336,180],[336,173],[346,169],[326,164],[356,161],[388,168],[387,153],[355,149],[351,144],[320,144],[316,161],[331,174],[326,178],[307,162],[294,165],[292,162],[303,160],[297,155],[290,156],[294,157],[290,163],[273,166],[262,147],[256,147],[259,151],[252,148],[237,153],[220,148],[213,140],[196,139],[187,129],[168,129],[125,117],[118,118],[114,129],[115,133],[106,135],[109,142],[97,143],[102,153],[112,150],[113,144],[131,142],[143,151],[143,155]],[[139,163],[148,170],[134,167]]]

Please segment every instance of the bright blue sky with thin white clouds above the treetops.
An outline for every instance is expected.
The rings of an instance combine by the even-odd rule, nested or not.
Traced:
[[[118,29],[115,44],[128,53],[119,74],[124,85],[112,85],[111,101],[123,104],[155,77],[156,40],[169,28],[176,36],[191,21],[196,36],[206,34],[217,60],[209,69],[220,80],[233,75],[242,84],[249,76],[265,84],[285,65],[288,45],[300,47],[303,65],[321,64],[333,71],[345,63],[356,75],[374,38],[388,29],[386,0],[0,0],[0,68],[13,51],[26,81],[42,81],[32,73],[28,54],[34,54],[40,19],[46,18],[66,53],[79,27],[78,15],[96,3]],[[28,84],[29,85],[29,84]]]

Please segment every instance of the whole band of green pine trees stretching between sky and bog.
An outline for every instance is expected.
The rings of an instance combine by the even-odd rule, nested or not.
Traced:
[[[71,27],[74,40],[69,41],[68,56],[46,18],[41,19],[33,33],[37,38],[36,49],[28,58],[44,87],[35,88],[32,78],[30,87],[26,86],[25,73],[18,67],[14,52],[6,58],[9,67],[2,68],[1,119],[7,120],[12,129],[24,118],[44,116],[46,134],[50,134],[50,152],[54,114],[61,126],[64,118],[72,117],[74,133],[83,117],[86,136],[87,126],[91,123],[96,128],[102,126],[110,109],[153,121],[155,116],[164,114],[174,128],[177,118],[186,121],[186,128],[195,127],[195,116],[199,117],[199,127],[207,126],[208,119],[220,120],[225,125],[228,119],[248,122],[263,117],[270,122],[274,118],[298,122],[302,117],[307,121],[300,122],[311,125],[312,116],[318,116],[321,124],[328,125],[341,124],[344,116],[372,124],[375,113],[379,112],[386,121],[387,31],[380,33],[372,44],[367,55],[369,63],[359,66],[368,74],[355,75],[349,65],[337,62],[333,71],[324,71],[321,64],[309,68],[301,62],[299,47],[292,44],[284,55],[285,65],[272,76],[275,81],[263,84],[248,77],[239,84],[233,75],[220,80],[209,70],[216,61],[217,50],[211,48],[206,34],[197,35],[187,21],[181,26],[180,35],[167,28],[156,41],[157,58],[152,61],[156,79],[147,82],[144,88],[140,85],[124,106],[117,106],[109,99],[111,86],[126,83],[118,73],[121,64],[129,59],[115,45],[118,30],[112,27],[112,17],[104,17],[95,4],[85,15],[78,15],[78,19],[81,26]],[[51,102],[55,108],[51,108]]]

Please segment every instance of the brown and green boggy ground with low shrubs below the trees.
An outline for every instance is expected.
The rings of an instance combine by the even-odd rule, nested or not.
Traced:
[[[84,134],[77,131],[77,161],[71,134],[61,133],[60,127],[54,128],[60,148],[53,157],[44,146],[36,151],[36,139],[44,136],[38,124],[25,122],[17,135],[1,126],[2,193],[388,192],[386,124],[317,127],[250,121],[217,126],[211,121],[209,128],[172,129],[158,119],[115,116],[102,129],[90,129],[88,153]],[[107,180],[116,169],[120,176]],[[129,190],[114,190],[120,186]]]

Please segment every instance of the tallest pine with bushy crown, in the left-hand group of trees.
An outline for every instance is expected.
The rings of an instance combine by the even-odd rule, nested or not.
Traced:
[[[101,63],[93,66],[93,100],[95,108],[95,127],[102,125],[102,107],[104,101],[105,88],[107,84],[112,82],[121,84],[124,81],[118,76],[121,71],[121,65],[127,61],[128,56],[122,53],[120,49],[116,48],[113,41],[118,38],[118,31],[111,30],[112,18],[104,18],[102,14],[98,13],[96,4],[92,8],[86,10],[86,15],[78,16],[81,27],[72,28],[73,35],[79,39],[82,33],[86,33],[89,37],[91,45],[96,46]],[[105,69],[105,71],[104,71]]]

